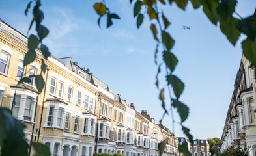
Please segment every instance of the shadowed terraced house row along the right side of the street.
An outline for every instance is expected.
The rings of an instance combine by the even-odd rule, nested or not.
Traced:
[[[248,146],[256,155],[255,67],[242,55],[221,136],[221,152],[230,146]]]

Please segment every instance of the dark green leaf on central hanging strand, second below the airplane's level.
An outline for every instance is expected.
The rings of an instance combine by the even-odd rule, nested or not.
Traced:
[[[163,58],[166,66],[171,70],[171,72],[173,72],[178,63],[177,57],[175,57],[175,55],[169,51],[164,51]]]

